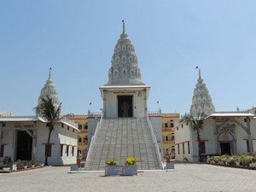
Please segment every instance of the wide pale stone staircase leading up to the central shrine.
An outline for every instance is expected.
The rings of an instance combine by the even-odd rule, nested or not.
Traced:
[[[125,165],[127,157],[139,160],[139,170],[160,169],[147,118],[102,119],[97,129],[85,170],[104,170],[105,161],[110,159]]]

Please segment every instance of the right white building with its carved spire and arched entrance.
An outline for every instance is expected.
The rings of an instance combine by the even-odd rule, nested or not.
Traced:
[[[200,130],[203,159],[206,160],[207,155],[253,153],[256,147],[255,110],[214,112],[201,73],[197,82],[189,115],[198,120],[204,114]],[[189,122],[181,119],[174,126],[174,131],[176,160],[199,161],[197,134]]]

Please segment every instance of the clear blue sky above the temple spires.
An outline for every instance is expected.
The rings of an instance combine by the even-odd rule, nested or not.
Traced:
[[[99,112],[121,20],[151,86],[149,111],[189,112],[196,66],[216,111],[252,108],[255,8],[254,0],[0,1],[0,109],[33,115],[52,67],[61,113]]]

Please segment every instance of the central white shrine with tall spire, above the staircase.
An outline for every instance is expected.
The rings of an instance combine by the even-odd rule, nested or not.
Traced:
[[[137,55],[128,35],[123,32],[113,50],[108,84],[100,87],[104,118],[146,117],[148,91],[143,84]]]

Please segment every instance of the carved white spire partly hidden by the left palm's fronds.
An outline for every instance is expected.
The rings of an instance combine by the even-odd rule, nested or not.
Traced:
[[[51,98],[54,102],[55,108],[58,108],[60,105],[57,91],[55,90],[55,85],[51,80],[51,68],[49,69],[49,79],[47,79],[46,84],[44,84],[43,89],[41,90],[40,96],[38,97],[38,106],[42,103],[42,98],[47,99]]]

